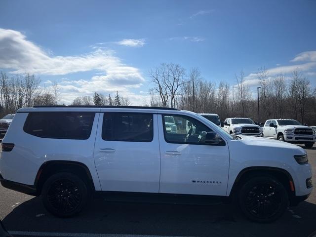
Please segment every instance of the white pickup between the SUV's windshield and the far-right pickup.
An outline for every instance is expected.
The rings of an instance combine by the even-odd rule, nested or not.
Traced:
[[[250,118],[226,118],[223,129],[230,134],[263,136],[263,128],[256,125]]]

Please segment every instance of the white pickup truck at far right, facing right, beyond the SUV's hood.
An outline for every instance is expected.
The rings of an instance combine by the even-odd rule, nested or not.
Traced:
[[[269,119],[263,128],[264,137],[279,141],[304,144],[313,147],[316,141],[315,131],[294,119]]]

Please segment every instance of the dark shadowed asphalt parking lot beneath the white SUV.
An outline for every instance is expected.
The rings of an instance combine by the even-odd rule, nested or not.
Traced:
[[[316,170],[316,146],[307,150]],[[313,175],[316,187],[316,174]],[[230,204],[214,206],[138,204],[94,199],[81,215],[57,218],[47,213],[40,197],[0,186],[0,219],[14,236],[59,237],[308,237],[316,231],[316,191],[272,224],[244,219]]]

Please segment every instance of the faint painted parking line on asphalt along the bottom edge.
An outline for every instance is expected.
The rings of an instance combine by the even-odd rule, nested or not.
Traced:
[[[152,236],[129,234],[90,234],[90,233],[62,233],[62,232],[31,232],[8,231],[13,236],[50,236],[50,237],[180,237],[180,236]]]

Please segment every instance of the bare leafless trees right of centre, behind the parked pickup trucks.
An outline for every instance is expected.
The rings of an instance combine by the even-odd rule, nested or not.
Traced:
[[[269,118],[293,118],[309,125],[316,124],[316,88],[299,71],[289,78],[285,74],[269,76],[258,70],[260,122]],[[241,71],[236,83],[203,79],[197,68],[187,71],[177,64],[160,64],[150,71],[151,106],[174,107],[196,113],[216,113],[223,120],[247,117],[258,121],[257,93]],[[255,87],[257,89],[257,87]]]

